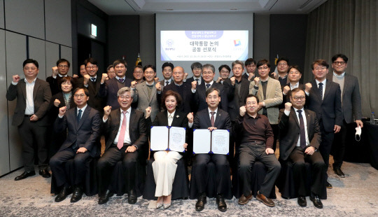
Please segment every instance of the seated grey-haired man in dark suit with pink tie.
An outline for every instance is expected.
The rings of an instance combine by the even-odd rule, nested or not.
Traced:
[[[113,195],[108,190],[111,172],[116,163],[122,160],[127,179],[126,190],[129,204],[137,202],[134,190],[135,173],[139,155],[148,142],[144,113],[131,108],[134,91],[130,87],[122,87],[117,93],[120,109],[111,111],[111,106],[104,108],[102,118],[106,146],[105,153],[99,159],[99,204],[108,202]]]

